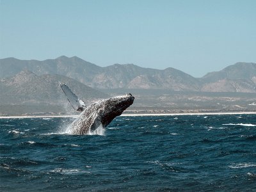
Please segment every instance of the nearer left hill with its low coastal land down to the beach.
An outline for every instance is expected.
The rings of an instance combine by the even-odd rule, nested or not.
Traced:
[[[86,104],[110,97],[69,77],[60,75],[37,76],[23,70],[0,81],[0,114],[74,113],[60,83],[67,84]]]

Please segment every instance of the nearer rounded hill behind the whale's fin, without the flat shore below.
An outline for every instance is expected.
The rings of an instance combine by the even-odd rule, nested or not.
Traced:
[[[60,88],[60,83],[70,86],[86,104],[95,99],[109,97],[108,94],[69,77],[51,74],[37,76],[29,70],[23,70],[13,77],[0,81],[0,104],[65,105],[68,101]]]

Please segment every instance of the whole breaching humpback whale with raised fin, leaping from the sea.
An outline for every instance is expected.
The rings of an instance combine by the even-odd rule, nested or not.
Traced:
[[[71,134],[88,134],[95,131],[100,125],[102,127],[108,126],[116,116],[121,115],[125,109],[131,106],[134,100],[134,97],[129,93],[99,100],[90,106],[85,106],[84,102],[78,99],[67,85],[61,84],[61,88],[73,108],[82,111],[69,127]]]

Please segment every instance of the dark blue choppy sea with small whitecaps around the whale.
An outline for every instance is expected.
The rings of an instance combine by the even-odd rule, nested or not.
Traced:
[[[256,116],[0,119],[0,191],[256,191]]]

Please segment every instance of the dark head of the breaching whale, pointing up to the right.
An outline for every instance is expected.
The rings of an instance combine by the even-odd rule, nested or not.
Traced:
[[[103,101],[102,125],[105,127],[116,117],[123,113],[133,103],[134,97],[131,93],[126,95],[112,97]]]

